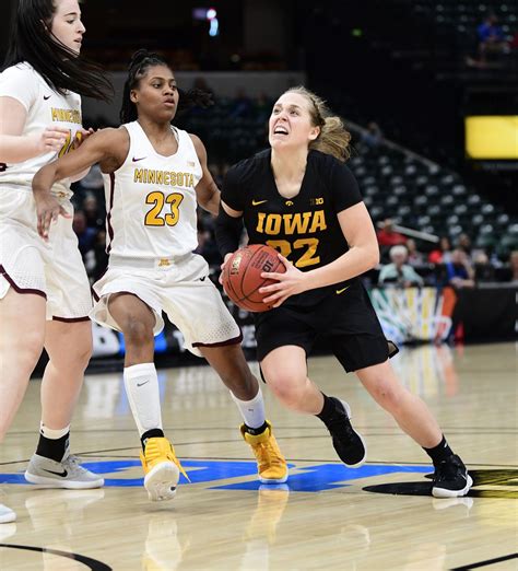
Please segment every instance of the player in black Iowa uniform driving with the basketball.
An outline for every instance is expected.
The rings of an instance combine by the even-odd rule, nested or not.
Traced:
[[[348,466],[366,458],[349,405],[322,394],[307,377],[306,358],[327,336],[345,371],[432,457],[435,497],[464,496],[472,480],[444,439],[426,405],[396,377],[385,338],[358,276],[378,264],[373,223],[345,166],[350,135],[339,117],[304,88],[285,92],[269,121],[271,149],[232,167],[222,189],[217,241],[222,255],[237,248],[242,223],[252,244],[279,250],[285,273],[260,290],[274,308],[255,315],[258,359],[278,398],[316,415]]]

